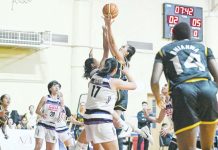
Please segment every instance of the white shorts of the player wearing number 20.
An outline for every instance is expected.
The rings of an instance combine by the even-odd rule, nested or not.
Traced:
[[[35,138],[45,139],[46,142],[56,143],[57,142],[57,133],[55,130],[46,129],[43,126],[36,126]]]

